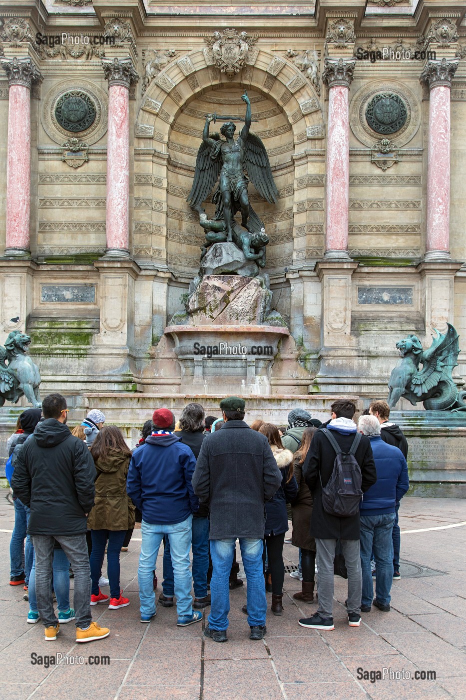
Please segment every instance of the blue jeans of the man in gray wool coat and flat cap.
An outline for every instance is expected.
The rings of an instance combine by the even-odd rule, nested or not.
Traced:
[[[209,627],[227,629],[230,612],[230,570],[232,568],[236,540],[211,540],[212,578],[211,578],[211,612]],[[262,570],[262,552],[264,543],[253,538],[240,538],[239,547],[243,559],[246,582],[246,605],[250,627],[265,624],[267,598],[265,597],[264,573]]]

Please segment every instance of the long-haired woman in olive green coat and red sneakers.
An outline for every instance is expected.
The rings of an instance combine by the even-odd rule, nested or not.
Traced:
[[[126,477],[132,453],[116,426],[103,426],[90,448],[97,470],[95,502],[87,517],[92,534],[90,569],[91,605],[108,603],[112,610],[126,608],[129,599],[120,591],[120,550],[128,528],[134,526],[134,505],[126,493]],[[99,589],[99,576],[107,544],[110,601]]]

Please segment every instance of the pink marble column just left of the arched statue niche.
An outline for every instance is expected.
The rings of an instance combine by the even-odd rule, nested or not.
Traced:
[[[108,80],[107,209],[105,257],[129,256],[129,85],[133,62],[102,59]]]

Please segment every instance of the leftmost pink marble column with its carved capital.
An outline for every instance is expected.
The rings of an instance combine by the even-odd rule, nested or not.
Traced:
[[[42,76],[30,58],[2,59],[8,76],[6,258],[29,258],[31,216],[31,84]]]

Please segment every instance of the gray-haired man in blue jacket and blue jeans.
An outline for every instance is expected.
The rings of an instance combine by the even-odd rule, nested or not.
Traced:
[[[395,507],[409,487],[408,465],[402,451],[384,442],[376,416],[360,416],[358,429],[371,442],[377,481],[368,489],[360,505],[362,612],[370,612],[372,602],[383,612],[390,610],[393,580],[393,539]],[[371,573],[371,552],[376,560],[376,597]]]

